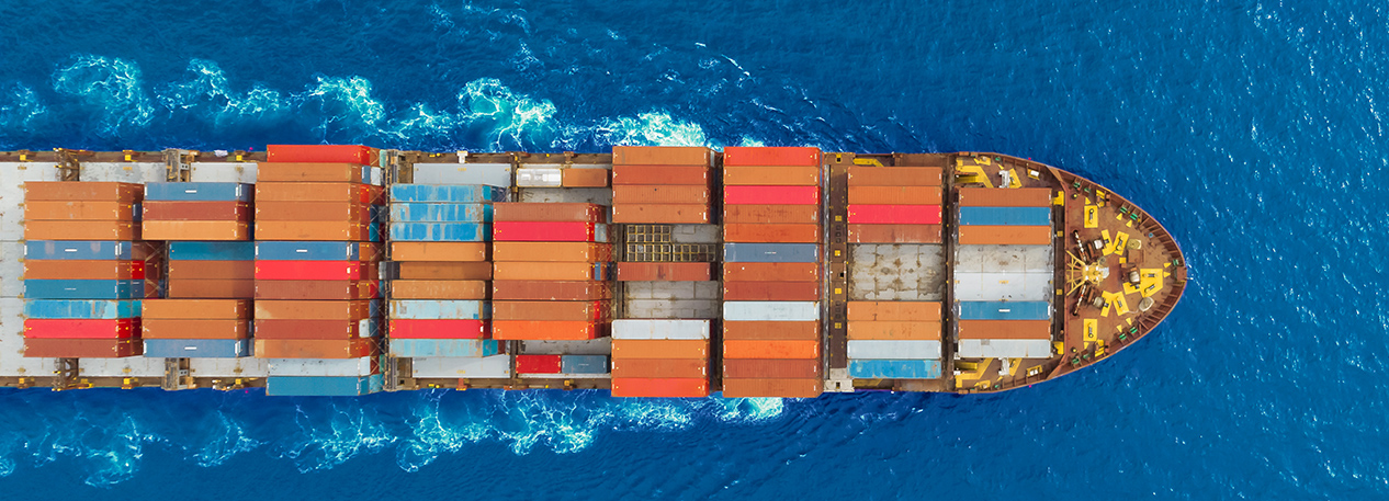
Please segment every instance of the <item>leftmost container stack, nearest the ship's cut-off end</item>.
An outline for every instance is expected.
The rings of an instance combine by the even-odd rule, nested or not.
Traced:
[[[140,300],[157,296],[158,262],[138,241],[140,185],[28,182],[24,355],[138,357]]]

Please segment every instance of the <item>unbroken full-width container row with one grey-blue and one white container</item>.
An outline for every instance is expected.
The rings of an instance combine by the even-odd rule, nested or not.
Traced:
[[[820,150],[724,150],[724,396],[813,398],[821,361]]]

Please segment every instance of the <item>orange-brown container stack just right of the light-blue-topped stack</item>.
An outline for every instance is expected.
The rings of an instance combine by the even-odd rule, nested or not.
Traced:
[[[607,336],[613,321],[607,208],[504,203],[493,207],[493,339]]]

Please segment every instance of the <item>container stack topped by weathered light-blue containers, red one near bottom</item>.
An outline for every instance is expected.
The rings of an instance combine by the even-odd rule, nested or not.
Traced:
[[[492,204],[506,190],[481,185],[392,185],[390,354],[469,357],[501,353],[492,340]]]

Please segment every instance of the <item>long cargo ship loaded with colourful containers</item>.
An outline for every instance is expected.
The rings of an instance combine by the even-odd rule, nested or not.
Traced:
[[[0,153],[0,386],[995,393],[1186,285],[1120,194],[993,153]]]

